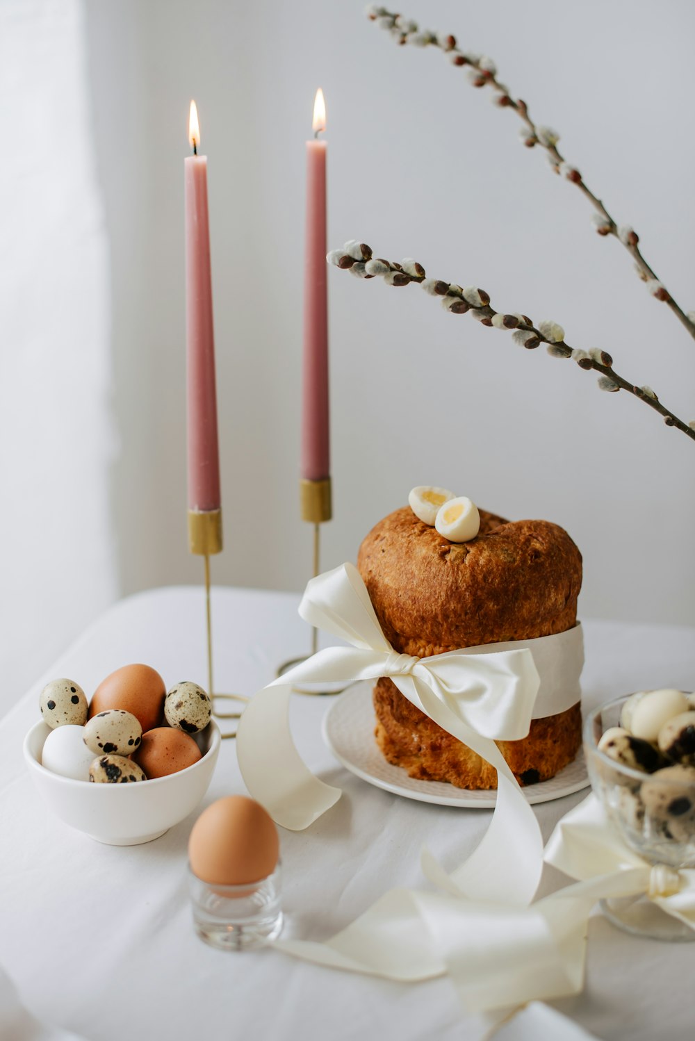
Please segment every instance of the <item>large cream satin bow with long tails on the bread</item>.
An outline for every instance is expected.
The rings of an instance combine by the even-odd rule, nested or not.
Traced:
[[[490,654],[451,651],[414,658],[393,650],[379,625],[367,590],[352,564],[319,575],[307,585],[300,614],[310,625],[352,646],[319,651],[259,690],[244,710],[237,732],[239,768],[251,795],[284,828],[307,828],[340,797],[340,790],[315,778],[301,759],[289,732],[292,685],[351,683],[389,676],[416,708],[497,770],[492,823],[472,856],[455,874],[463,892],[499,898],[499,849],[514,845],[527,856],[517,861],[510,904],[527,904],[542,870],[540,830],[495,740],[529,733],[540,679],[527,649]],[[495,850],[494,858],[488,854]],[[503,858],[504,860],[504,858]]]

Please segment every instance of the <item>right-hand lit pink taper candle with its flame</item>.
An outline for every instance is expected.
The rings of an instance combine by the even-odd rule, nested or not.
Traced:
[[[326,129],[320,88],[314,103],[313,130]],[[328,281],[326,264],[326,142],[307,142],[307,225],[304,278],[304,362],[302,477],[330,476],[328,395]]]

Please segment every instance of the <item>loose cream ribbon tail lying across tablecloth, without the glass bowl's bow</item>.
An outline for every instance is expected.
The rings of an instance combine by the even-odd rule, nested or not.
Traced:
[[[511,907],[504,893],[496,900],[461,895],[427,850],[422,866],[443,892],[393,889],[326,943],[276,940],[274,946],[317,965],[404,983],[446,973],[468,1012],[488,1014],[580,993],[592,907],[634,886],[619,872]]]

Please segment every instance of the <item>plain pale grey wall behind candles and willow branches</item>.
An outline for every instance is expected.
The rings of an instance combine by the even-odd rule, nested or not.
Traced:
[[[695,308],[688,0],[410,0],[495,58],[687,309]],[[435,50],[397,48],[361,0],[88,0],[93,108],[112,243],[125,592],[198,582],[184,466],[183,156],[188,100],[209,156],[226,550],[218,583],[300,589],[304,141],[328,103],[330,245],[368,242],[564,325],[695,418],[695,342],[652,300],[518,120]],[[595,374],[526,352],[411,286],[330,273],[335,518],[324,566],[414,484],[565,526],[582,612],[695,623],[695,445]]]

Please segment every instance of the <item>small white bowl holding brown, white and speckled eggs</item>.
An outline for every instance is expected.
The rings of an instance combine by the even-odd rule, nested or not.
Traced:
[[[91,702],[78,683],[52,680],[24,757],[46,805],[110,845],[163,835],[203,798],[220,753],[211,702],[196,683],[169,691],[149,665],[125,665]]]

